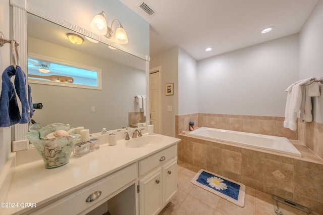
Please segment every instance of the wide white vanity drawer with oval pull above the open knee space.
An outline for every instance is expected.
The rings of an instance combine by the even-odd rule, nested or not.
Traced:
[[[121,188],[125,189],[124,186],[136,178],[137,165],[133,164],[60,200],[50,202],[49,205],[33,211],[32,214],[78,214],[88,209],[94,209],[108,200],[107,197],[113,197],[110,195],[114,192]],[[101,195],[94,201],[86,202],[88,196],[96,191],[101,191]]]

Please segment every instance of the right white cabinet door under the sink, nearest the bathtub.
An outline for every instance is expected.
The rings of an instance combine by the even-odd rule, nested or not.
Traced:
[[[166,205],[177,192],[177,157],[162,167],[163,205]]]

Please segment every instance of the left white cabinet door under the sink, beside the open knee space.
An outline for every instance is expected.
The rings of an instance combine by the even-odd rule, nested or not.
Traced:
[[[163,206],[161,168],[139,180],[139,213],[157,214]]]

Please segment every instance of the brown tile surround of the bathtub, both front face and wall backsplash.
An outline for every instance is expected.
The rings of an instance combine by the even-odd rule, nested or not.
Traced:
[[[178,135],[181,131],[188,131],[189,121],[194,121],[195,128],[207,126],[285,136],[303,157],[283,156],[275,152]],[[231,178],[255,190],[286,198],[323,214],[323,160],[311,151],[315,147],[319,151],[316,145],[322,144],[323,126],[315,122],[299,123],[298,141],[298,131],[283,128],[283,121],[283,117],[218,114],[176,116],[176,136],[182,139],[178,144],[178,158],[197,168]],[[302,141],[309,145],[304,146]]]

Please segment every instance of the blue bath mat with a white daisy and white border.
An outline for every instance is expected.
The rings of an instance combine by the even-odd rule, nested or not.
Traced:
[[[220,175],[200,170],[191,181],[193,184],[243,207],[246,186]]]

